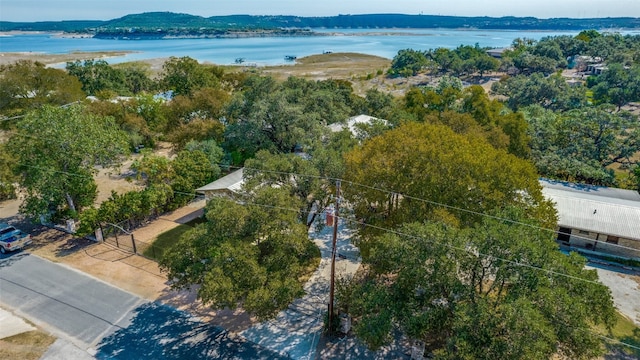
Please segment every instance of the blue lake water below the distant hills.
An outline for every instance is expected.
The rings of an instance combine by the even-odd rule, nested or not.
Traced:
[[[72,51],[135,51],[110,63],[190,56],[202,62],[233,64],[244,58],[256,65],[286,63],[284,57],[303,57],[324,51],[358,52],[393,58],[398,50],[428,50],[459,45],[509,46],[515,38],[539,40],[545,36],[576,35],[577,31],[502,31],[453,29],[314,29],[327,36],[262,37],[239,39],[100,40],[63,38],[52,34],[24,34],[0,37],[0,52],[64,54]],[[330,33],[341,35],[329,36]],[[640,33],[623,32],[623,33]]]

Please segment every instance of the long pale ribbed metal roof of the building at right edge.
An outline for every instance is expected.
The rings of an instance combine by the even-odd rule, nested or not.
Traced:
[[[585,186],[571,183],[541,181],[541,184],[543,194],[556,204],[558,225],[640,240],[640,195],[637,192],[582,188]]]

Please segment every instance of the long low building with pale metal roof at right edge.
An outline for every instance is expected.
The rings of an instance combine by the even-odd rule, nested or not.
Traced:
[[[541,180],[558,211],[564,245],[640,259],[640,194],[632,190]]]

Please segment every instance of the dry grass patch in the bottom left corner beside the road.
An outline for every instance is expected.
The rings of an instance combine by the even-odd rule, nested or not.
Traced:
[[[39,330],[27,331],[0,340],[0,359],[37,360],[56,338]]]

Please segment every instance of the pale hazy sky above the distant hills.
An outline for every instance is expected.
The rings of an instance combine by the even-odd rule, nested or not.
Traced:
[[[110,20],[171,11],[200,15],[425,14],[640,17],[640,0],[0,0],[0,21]]]

